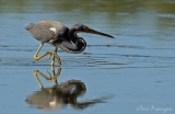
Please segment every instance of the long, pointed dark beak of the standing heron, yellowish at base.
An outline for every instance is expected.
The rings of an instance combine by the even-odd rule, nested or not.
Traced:
[[[115,38],[115,37],[112,36],[112,35],[108,35],[108,34],[105,34],[105,33],[102,33],[102,32],[97,32],[97,31],[92,30],[92,29],[89,29],[89,27],[85,27],[85,29],[84,29],[84,32],[85,32],[85,33],[97,34],[97,35],[103,35],[103,36],[110,37],[110,38]]]

